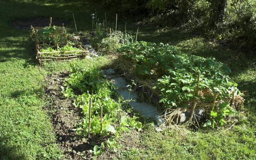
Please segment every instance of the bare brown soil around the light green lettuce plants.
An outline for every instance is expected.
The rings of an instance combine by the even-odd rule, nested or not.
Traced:
[[[68,75],[69,73],[62,72],[47,77],[48,86],[45,92],[51,103],[46,106],[46,109],[52,118],[51,122],[54,127],[57,142],[59,143],[59,148],[64,152],[64,158],[68,160],[89,160],[92,158],[89,150],[93,149],[95,144],[100,145],[101,142],[107,142],[107,137],[94,136],[88,140],[87,137],[75,134],[73,129],[75,128],[75,124],[82,121],[82,114],[80,108],[73,106],[71,99],[66,99],[62,96],[61,86],[63,80]],[[118,140],[118,143],[123,145],[120,151],[129,150],[131,148],[141,148],[140,135],[140,132],[136,130],[123,133]],[[103,154],[99,155],[97,159],[112,160],[113,158],[120,158],[119,153],[110,150],[107,151],[107,146],[105,145],[105,151],[103,151]]]

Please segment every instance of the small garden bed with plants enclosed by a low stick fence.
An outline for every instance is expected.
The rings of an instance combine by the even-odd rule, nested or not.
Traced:
[[[32,41],[36,45],[37,60],[44,61],[70,61],[84,59],[89,53],[82,47],[84,35],[75,35],[69,29],[59,26],[33,27]]]

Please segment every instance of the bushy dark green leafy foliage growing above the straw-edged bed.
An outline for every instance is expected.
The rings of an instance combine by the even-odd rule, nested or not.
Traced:
[[[240,95],[238,84],[229,78],[229,68],[212,57],[188,55],[169,44],[144,41],[123,45],[119,52],[122,53],[121,59],[130,63],[130,74],[154,82],[152,90],[160,96],[159,102],[164,109],[191,108],[194,98],[199,99],[200,107],[206,106],[212,103],[215,93],[217,101],[229,101],[231,90]],[[223,122],[221,119],[216,121]]]

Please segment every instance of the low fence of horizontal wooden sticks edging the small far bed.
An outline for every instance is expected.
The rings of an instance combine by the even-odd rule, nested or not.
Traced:
[[[39,39],[35,29],[43,29],[44,27],[32,27],[32,34],[35,38],[37,60],[41,64],[43,61],[71,61],[74,59],[84,59],[89,53],[89,50],[76,50],[76,51],[55,51],[55,52],[40,52]]]

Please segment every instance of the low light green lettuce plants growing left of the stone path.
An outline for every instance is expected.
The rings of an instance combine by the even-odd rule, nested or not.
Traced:
[[[121,103],[112,99],[115,94],[114,86],[107,79],[103,78],[100,70],[97,68],[87,68],[80,70],[73,63],[70,65],[71,74],[65,79],[62,87],[64,97],[73,98],[75,107],[81,108],[84,115],[83,121],[75,125],[75,132],[78,135],[87,135],[89,128],[89,99],[92,98],[91,108],[91,130],[93,135],[103,135],[110,137],[107,146],[109,149],[117,151],[120,145],[116,139],[121,136],[124,131],[129,130],[129,124],[132,128],[141,128],[141,123],[136,122],[136,118],[122,116],[120,121],[117,113],[121,111]],[[103,123],[101,130],[100,112],[103,107]],[[119,125],[117,126],[117,123]],[[112,137],[115,137],[113,139]],[[102,153],[103,149],[94,146],[91,151],[94,155]]]

